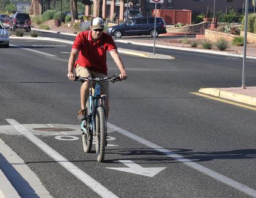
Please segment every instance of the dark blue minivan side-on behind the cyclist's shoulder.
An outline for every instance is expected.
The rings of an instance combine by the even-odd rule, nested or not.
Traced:
[[[161,17],[156,18],[156,32],[154,17],[131,18],[120,25],[108,28],[108,34],[115,38],[134,35],[151,35],[154,37],[154,34],[158,37],[159,34],[165,33],[166,23]]]

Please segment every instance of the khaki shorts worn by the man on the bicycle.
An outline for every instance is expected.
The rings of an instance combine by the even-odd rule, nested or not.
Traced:
[[[105,74],[101,74],[98,72],[94,72],[91,71],[88,68],[85,68],[83,66],[80,65],[76,65],[76,76],[81,76],[81,77],[100,77],[100,78],[104,78],[107,77]],[[103,81],[100,83],[101,85],[101,94],[106,94],[107,96],[109,96],[109,82],[108,81]]]

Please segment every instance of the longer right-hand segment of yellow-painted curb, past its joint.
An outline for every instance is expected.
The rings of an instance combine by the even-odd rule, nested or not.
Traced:
[[[243,94],[232,93],[228,91],[221,91],[219,97],[256,106],[256,97],[252,96],[246,96]]]

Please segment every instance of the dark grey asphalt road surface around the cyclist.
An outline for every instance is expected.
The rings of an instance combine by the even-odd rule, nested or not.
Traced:
[[[51,196],[103,197],[101,193],[109,192],[109,197],[250,197],[250,192],[256,196],[255,111],[191,93],[202,87],[240,87],[240,58],[167,49],[158,53],[174,55],[176,60],[121,54],[128,80],[111,84],[108,119],[108,127],[121,129],[109,133],[112,145],[107,147],[106,162],[97,163],[95,153],[84,154],[75,130],[79,85],[66,77],[71,45],[26,40],[11,44],[15,46],[1,50],[0,138],[35,172]],[[109,74],[118,72],[109,56],[108,67]],[[247,86],[254,85],[255,75],[255,61],[249,60]],[[64,168],[63,161],[57,163],[37,142],[21,135],[24,131],[13,132],[6,119],[23,124],[54,149],[50,156],[62,155],[68,160],[64,162],[104,188],[93,191],[82,176]],[[35,128],[42,126],[74,131],[37,133]],[[79,139],[56,139],[64,134]],[[137,174],[113,169],[128,166]],[[140,175],[152,170],[139,166],[159,168],[159,172],[152,177]]]

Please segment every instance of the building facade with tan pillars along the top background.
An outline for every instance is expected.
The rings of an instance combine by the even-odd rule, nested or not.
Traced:
[[[96,1],[93,0],[92,5],[86,5],[86,15],[96,16]],[[243,10],[245,0],[215,0],[215,11],[228,12],[230,9]],[[117,19],[123,19],[123,13],[129,8],[141,10],[142,15],[152,16],[155,4],[151,4],[149,0],[103,0],[103,18],[117,16]],[[213,12],[214,0],[164,0],[163,4],[158,4],[158,9],[174,9],[174,10],[192,10],[193,13],[205,12],[208,8],[209,12]],[[249,10],[253,10],[252,0],[249,0]]]

